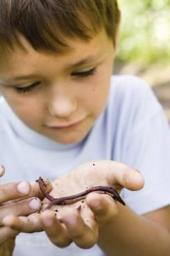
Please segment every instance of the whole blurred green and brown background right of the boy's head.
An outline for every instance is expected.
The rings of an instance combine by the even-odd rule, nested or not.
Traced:
[[[170,0],[117,1],[121,33],[114,73],[144,78],[170,121]]]

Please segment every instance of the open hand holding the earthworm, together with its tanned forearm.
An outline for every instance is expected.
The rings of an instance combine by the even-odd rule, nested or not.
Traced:
[[[114,161],[99,160],[79,165],[56,179],[51,195],[61,197],[69,195],[70,191],[78,193],[87,184],[96,186],[99,183],[114,186],[118,192],[122,187],[139,190],[144,186],[144,180],[137,170]],[[43,207],[47,202],[44,199]],[[57,213],[53,211],[56,209],[54,207],[28,217],[8,216],[3,219],[3,224],[19,232],[44,229],[51,242],[61,248],[74,241],[80,248],[90,248],[98,243],[105,254],[111,256],[169,255],[169,206],[138,216],[128,206],[121,206],[110,196],[98,193],[87,195],[80,212],[77,211],[79,205],[80,202],[58,206]]]

